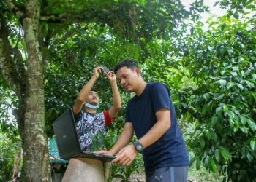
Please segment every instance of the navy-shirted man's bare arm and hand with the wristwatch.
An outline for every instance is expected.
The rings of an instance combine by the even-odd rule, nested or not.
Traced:
[[[146,135],[140,138],[140,143],[143,145],[143,148],[150,146],[152,143],[157,141],[165,132],[170,128],[170,111],[166,108],[161,108],[156,113],[157,123],[149,130]],[[129,145],[121,149],[118,152],[116,159],[112,162],[116,162],[118,165],[128,166],[135,159],[136,151],[134,145]]]

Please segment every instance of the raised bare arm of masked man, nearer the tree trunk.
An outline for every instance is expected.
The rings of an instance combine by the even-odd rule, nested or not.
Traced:
[[[78,114],[82,107],[83,107],[83,103],[86,101],[87,96],[89,95],[89,92],[91,90],[91,87],[94,86],[94,83],[96,82],[96,80],[99,77],[99,73],[100,73],[100,67],[96,67],[94,68],[94,74],[91,76],[91,79],[89,80],[89,82],[87,82],[82,90],[80,90],[80,92],[78,93],[78,97],[75,100],[75,104],[73,106],[73,113],[74,114]]]

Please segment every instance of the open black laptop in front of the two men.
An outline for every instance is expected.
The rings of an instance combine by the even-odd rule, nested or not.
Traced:
[[[83,157],[110,162],[116,158],[116,156],[81,151],[72,108],[69,108],[53,122],[53,131],[56,136],[56,143],[61,159]]]

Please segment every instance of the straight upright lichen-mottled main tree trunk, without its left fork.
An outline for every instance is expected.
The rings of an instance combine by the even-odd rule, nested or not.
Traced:
[[[51,181],[45,134],[44,68],[38,40],[40,7],[39,0],[26,1],[23,19],[28,60],[21,181]]]

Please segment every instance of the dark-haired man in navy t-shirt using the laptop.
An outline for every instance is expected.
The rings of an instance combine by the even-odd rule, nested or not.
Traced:
[[[112,162],[124,166],[143,154],[146,181],[187,181],[189,156],[168,88],[160,82],[145,82],[135,60],[118,63],[114,72],[121,87],[136,95],[127,103],[118,141],[109,151],[100,152],[117,154]],[[128,145],[134,132],[138,141]]]

